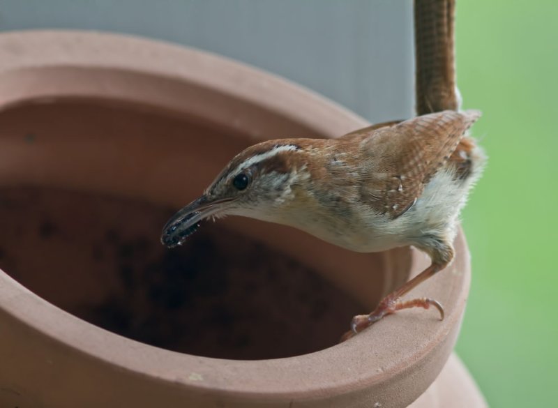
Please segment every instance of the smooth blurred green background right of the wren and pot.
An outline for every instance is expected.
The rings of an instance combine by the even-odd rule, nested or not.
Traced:
[[[558,406],[558,1],[458,1],[458,84],[488,168],[463,214],[457,351],[492,407]]]

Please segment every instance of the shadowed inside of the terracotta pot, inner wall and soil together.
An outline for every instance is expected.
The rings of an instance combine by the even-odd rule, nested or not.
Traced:
[[[175,250],[159,243],[167,218],[257,141],[114,100],[10,107],[0,112],[0,268],[81,319],[178,352],[259,359],[331,347],[407,278],[407,248],[356,254],[245,218],[205,222]]]

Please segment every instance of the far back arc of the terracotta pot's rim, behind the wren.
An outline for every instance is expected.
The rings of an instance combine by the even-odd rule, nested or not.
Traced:
[[[296,118],[299,123],[308,123],[319,133],[331,137],[369,124],[333,101],[276,75],[210,52],[134,36],[70,30],[13,31],[0,34],[0,56],[0,73],[10,75],[10,78],[14,75],[19,82],[0,84],[0,109],[20,100],[49,100],[60,93],[65,96],[126,98],[126,90],[121,85],[130,84],[111,82],[111,77],[95,86],[81,81],[83,70],[90,74],[110,70],[112,73],[157,77],[161,91],[171,94],[176,82],[195,84]],[[52,73],[52,70],[63,71],[64,82],[54,77],[48,83],[39,83],[36,80],[39,70],[41,75]],[[167,84],[164,79],[173,83]],[[137,101],[142,96],[142,89],[128,90],[128,98]],[[293,100],[299,102],[293,105]],[[149,103],[147,100],[142,102]],[[184,108],[179,100],[172,99],[172,95],[158,99],[156,103],[170,109]],[[312,118],[299,109],[304,105],[312,106]],[[220,108],[217,101],[213,109]],[[242,125],[238,117],[227,123],[227,126]],[[258,136],[257,132],[254,136]]]

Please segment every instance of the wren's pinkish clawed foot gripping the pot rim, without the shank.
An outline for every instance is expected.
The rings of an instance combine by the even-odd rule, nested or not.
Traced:
[[[444,319],[444,307],[439,301],[429,298],[412,299],[410,301],[401,301],[393,294],[386,296],[377,306],[377,308],[369,315],[357,315],[353,317],[351,322],[351,330],[347,331],[341,337],[341,342],[352,338],[354,335],[360,333],[368,326],[372,326],[378,320],[386,315],[391,315],[401,309],[409,308],[425,308],[429,309],[434,306],[440,313],[440,320]]]

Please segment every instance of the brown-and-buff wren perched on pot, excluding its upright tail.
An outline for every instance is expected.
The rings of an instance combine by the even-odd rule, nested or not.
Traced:
[[[443,319],[437,301],[401,297],[453,258],[458,216],[485,162],[466,135],[480,115],[446,110],[338,139],[255,144],[167,222],[161,241],[172,248],[201,220],[234,215],[299,228],[357,252],[414,245],[432,264],[369,315],[355,316],[345,339],[405,308],[434,306]]]

